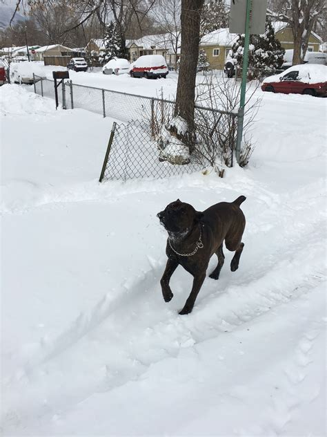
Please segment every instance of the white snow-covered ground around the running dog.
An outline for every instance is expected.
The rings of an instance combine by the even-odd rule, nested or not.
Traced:
[[[325,436],[326,100],[264,94],[250,165],[226,178],[100,185],[109,118],[0,98],[3,435]],[[239,270],[225,251],[180,316],[191,277],[165,304],[156,214],[241,194]]]

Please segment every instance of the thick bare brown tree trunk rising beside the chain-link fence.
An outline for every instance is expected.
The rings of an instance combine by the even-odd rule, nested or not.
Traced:
[[[175,116],[188,124],[188,137],[194,131],[195,79],[199,57],[200,15],[204,0],[181,0],[181,60],[177,83]],[[190,145],[192,151],[192,145]]]

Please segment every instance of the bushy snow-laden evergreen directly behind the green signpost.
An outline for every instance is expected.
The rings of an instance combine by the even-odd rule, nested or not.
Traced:
[[[236,59],[237,67],[243,63],[244,35],[239,35],[230,50],[230,57]],[[248,49],[248,79],[274,73],[284,62],[285,49],[275,38],[275,30],[269,19],[266,19],[264,35],[250,35]]]

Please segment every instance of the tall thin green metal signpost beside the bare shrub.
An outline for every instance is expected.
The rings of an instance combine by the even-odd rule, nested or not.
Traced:
[[[237,142],[236,142],[237,162],[239,162],[239,158],[241,156],[241,141],[243,136],[244,106],[245,106],[245,97],[246,97],[246,77],[248,73],[248,46],[250,43],[251,11],[252,11],[252,0],[246,0],[246,28],[245,28],[245,36],[244,36],[241,99],[239,102],[239,111],[237,114]]]

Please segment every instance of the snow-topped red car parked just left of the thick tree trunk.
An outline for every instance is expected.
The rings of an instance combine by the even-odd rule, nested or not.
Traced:
[[[130,77],[167,77],[168,67],[164,56],[143,55],[140,56],[130,69]]]

